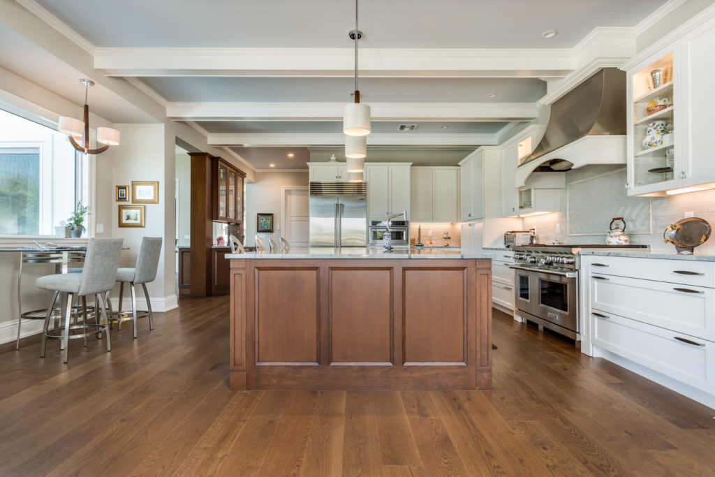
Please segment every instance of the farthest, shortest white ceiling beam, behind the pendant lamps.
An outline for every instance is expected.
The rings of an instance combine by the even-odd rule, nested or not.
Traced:
[[[255,133],[209,134],[209,146],[340,146],[345,134]],[[368,146],[480,146],[496,145],[496,134],[420,134],[395,133],[368,136]]]

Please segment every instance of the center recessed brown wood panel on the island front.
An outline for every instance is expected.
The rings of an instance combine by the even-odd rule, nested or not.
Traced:
[[[330,268],[330,363],[391,365],[392,269]]]

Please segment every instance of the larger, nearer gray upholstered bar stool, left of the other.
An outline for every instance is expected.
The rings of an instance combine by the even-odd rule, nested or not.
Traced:
[[[52,300],[47,307],[47,315],[42,333],[42,348],[40,357],[44,358],[47,338],[60,339],[64,345],[64,363],[69,360],[69,340],[84,338],[87,343],[87,336],[107,333],[107,351],[112,350],[112,343],[109,340],[109,319],[102,303],[102,294],[112,289],[117,278],[117,267],[119,266],[119,255],[122,253],[122,239],[89,239],[87,243],[87,256],[84,258],[82,273],[59,273],[56,275],[46,275],[36,280],[38,288],[52,290]],[[86,297],[95,295],[97,308],[102,310],[102,321],[95,320],[94,325],[87,323],[87,313],[84,313],[82,325],[75,323],[70,325],[71,306],[64,305],[65,310],[64,326],[49,330],[49,322],[52,317],[52,309],[57,300],[57,296],[62,294],[64,303],[72,303],[72,296]],[[95,315],[97,317],[97,315]],[[82,330],[84,333],[71,333]],[[91,331],[89,331],[91,330]],[[70,334],[71,333],[71,334]]]

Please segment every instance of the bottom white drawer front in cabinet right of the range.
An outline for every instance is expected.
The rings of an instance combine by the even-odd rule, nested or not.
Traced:
[[[715,343],[616,315],[609,318],[593,315],[592,333],[593,344],[604,350],[715,393]]]

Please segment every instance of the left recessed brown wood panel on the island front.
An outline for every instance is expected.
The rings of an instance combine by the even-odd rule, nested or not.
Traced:
[[[317,365],[317,273],[312,267],[255,270],[256,364]]]

